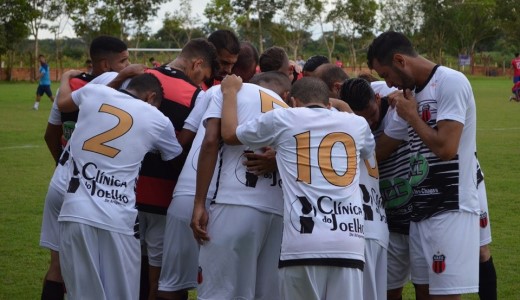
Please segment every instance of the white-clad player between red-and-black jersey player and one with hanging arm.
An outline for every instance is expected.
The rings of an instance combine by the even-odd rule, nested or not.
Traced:
[[[242,42],[238,60],[231,72],[240,74],[246,80],[249,80],[255,74],[257,64],[258,52],[256,48],[249,42]],[[206,91],[204,96],[199,97],[193,111],[184,123],[184,130],[196,132],[196,135],[175,185],[173,199],[166,214],[163,259],[157,299],[187,299],[188,290],[196,288],[198,284],[199,245],[193,238],[190,222],[193,213],[198,154],[205,134],[202,117],[213,93],[219,90],[220,86],[213,86]],[[212,180],[210,188],[215,186],[214,180],[216,180],[216,177],[214,176]],[[212,189],[208,192],[208,195],[213,195],[214,192]]]

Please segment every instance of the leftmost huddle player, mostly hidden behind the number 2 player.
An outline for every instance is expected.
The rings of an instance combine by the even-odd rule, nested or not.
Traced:
[[[126,44],[114,37],[96,37],[90,44],[89,52],[92,57],[93,74],[81,73],[71,78],[69,85],[73,90],[83,87],[100,74],[111,70],[121,71],[129,64]],[[108,82],[109,80],[99,83],[107,84]],[[68,152],[61,160],[60,156],[75,128],[77,118],[78,111],[62,113],[58,110],[58,103],[55,101],[45,131],[45,142],[57,167],[50,181],[43,208],[40,246],[50,250],[51,259],[44,278],[42,299],[63,299],[64,297],[65,287],[59,264],[58,215],[67,189],[66,167],[69,163],[69,156]]]

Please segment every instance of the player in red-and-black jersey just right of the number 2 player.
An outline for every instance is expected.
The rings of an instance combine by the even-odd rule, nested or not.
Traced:
[[[148,298],[157,294],[162,264],[166,212],[172,200],[173,189],[186,159],[195,133],[182,130],[184,121],[195,106],[201,92],[199,85],[212,78],[218,70],[215,46],[203,38],[190,40],[172,62],[145,72],[155,76],[164,87],[164,99],[159,110],[172,122],[179,143],[186,152],[175,164],[163,161],[158,153],[146,154],[137,181],[137,209],[143,246],[142,278],[148,278],[149,288],[143,282],[141,292],[149,290]],[[148,271],[148,276],[146,275]]]

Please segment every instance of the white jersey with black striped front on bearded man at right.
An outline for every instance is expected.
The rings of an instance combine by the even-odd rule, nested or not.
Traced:
[[[464,125],[457,155],[440,160],[409,126],[412,221],[445,211],[477,214],[476,108],[464,74],[439,66],[423,90],[416,92],[418,113],[430,127],[452,120]]]

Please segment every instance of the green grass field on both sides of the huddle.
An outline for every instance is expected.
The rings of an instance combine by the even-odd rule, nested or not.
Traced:
[[[498,298],[519,299],[520,103],[508,101],[510,79],[479,77],[471,78],[471,83]],[[0,299],[39,299],[49,263],[48,250],[38,243],[43,201],[54,169],[43,140],[51,103],[44,96],[40,110],[32,110],[36,87],[0,82]],[[53,83],[53,90],[57,87]],[[476,295],[463,298],[478,299]],[[414,299],[410,286],[404,299]]]

